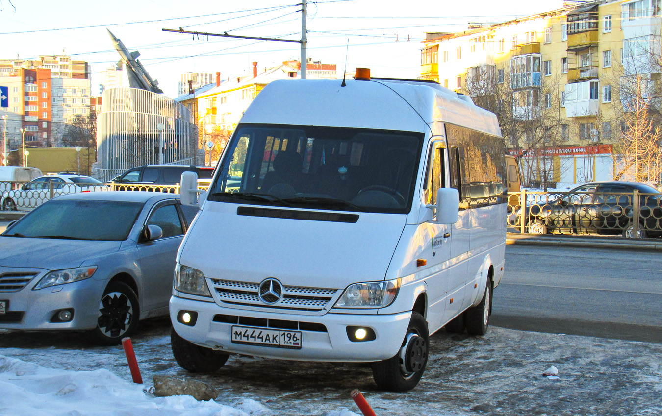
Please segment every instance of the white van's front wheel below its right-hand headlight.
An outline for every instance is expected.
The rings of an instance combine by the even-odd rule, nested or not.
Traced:
[[[387,360],[372,364],[377,388],[401,393],[416,387],[428,363],[429,345],[428,322],[420,313],[412,312],[398,353]],[[405,363],[401,356],[410,360]]]

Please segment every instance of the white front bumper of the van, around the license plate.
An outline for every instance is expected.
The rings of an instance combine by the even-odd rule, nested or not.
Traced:
[[[195,325],[184,325],[177,321],[177,313],[183,310],[198,313]],[[303,323],[302,328],[310,326],[307,324],[322,324],[326,327],[326,331],[302,329],[301,349],[236,344],[230,340],[233,324],[221,322],[218,319],[214,321],[216,315],[297,321]],[[411,312],[392,315],[326,313],[321,316],[280,312],[265,313],[224,308],[213,302],[200,302],[177,296],[170,298],[170,319],[173,327],[177,334],[191,343],[227,353],[287,360],[369,362],[391,358],[402,345],[410,318]],[[242,323],[239,325],[252,326]],[[313,326],[319,327],[319,325]],[[346,330],[348,326],[370,327],[375,331],[376,338],[373,341],[350,341]]]

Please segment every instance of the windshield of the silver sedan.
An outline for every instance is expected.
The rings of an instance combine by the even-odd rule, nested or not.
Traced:
[[[50,200],[0,235],[122,241],[143,205],[142,202]]]

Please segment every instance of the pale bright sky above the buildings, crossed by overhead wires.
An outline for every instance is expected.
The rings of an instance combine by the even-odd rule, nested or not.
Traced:
[[[299,0],[300,1],[300,0]],[[301,40],[297,0],[0,0],[0,59],[62,54],[90,63],[92,91],[99,71],[119,60],[106,29],[169,97],[181,73],[219,71],[238,77],[298,59],[299,43],[164,32],[163,28]],[[470,4],[471,7],[467,7]],[[425,32],[459,32],[468,22],[496,23],[558,9],[561,0],[318,0],[308,2],[308,58],[369,67],[375,77],[416,78]]]

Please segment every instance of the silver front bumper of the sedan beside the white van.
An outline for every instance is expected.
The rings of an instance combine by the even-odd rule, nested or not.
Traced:
[[[88,278],[32,290],[43,276],[34,277],[18,292],[0,292],[0,300],[9,302],[7,312],[0,314],[1,329],[93,329],[97,325],[105,282]],[[73,310],[73,319],[53,322],[52,317],[64,309]]]

